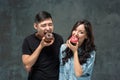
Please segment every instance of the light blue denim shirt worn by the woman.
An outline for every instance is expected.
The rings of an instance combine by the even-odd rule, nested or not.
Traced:
[[[62,58],[65,56],[65,52],[62,53],[63,50],[66,49],[66,45],[63,44],[61,45],[60,48],[60,73],[59,73],[59,80],[91,80],[91,75],[92,75],[92,70],[94,66],[94,61],[95,61],[95,51],[92,51],[90,53],[90,58],[87,59],[87,62],[82,64],[82,75],[80,77],[76,77],[75,71],[74,71],[74,59],[69,58],[68,62],[66,62],[63,65]],[[79,49],[80,50],[80,49]],[[80,54],[80,53],[78,53]]]

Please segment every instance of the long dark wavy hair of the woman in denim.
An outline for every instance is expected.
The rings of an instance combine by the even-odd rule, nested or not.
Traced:
[[[87,58],[90,57],[90,52],[95,49],[95,44],[94,44],[94,36],[93,36],[93,32],[92,32],[92,25],[89,21],[87,20],[80,20],[77,21],[75,23],[75,25],[73,26],[72,30],[71,30],[71,34],[68,37],[68,39],[72,36],[72,32],[79,26],[83,24],[86,30],[86,34],[87,34],[87,39],[85,39],[82,43],[82,45],[79,47],[81,48],[81,52],[79,52],[78,50],[78,57],[79,57],[79,62],[80,64],[83,64],[87,61]],[[68,58],[71,58],[73,56],[73,52],[69,49],[66,48],[63,53],[66,52],[66,56],[62,59],[63,60],[63,64],[65,64],[65,62],[68,61]]]

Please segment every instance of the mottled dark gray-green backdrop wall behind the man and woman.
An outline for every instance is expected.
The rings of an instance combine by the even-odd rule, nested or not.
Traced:
[[[42,10],[64,40],[77,20],[90,20],[97,46],[92,80],[120,80],[120,0],[0,0],[0,80],[27,79],[21,45]]]

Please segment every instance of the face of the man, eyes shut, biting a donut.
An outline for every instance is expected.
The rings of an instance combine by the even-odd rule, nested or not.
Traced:
[[[53,22],[52,19],[45,19],[44,21],[40,23],[34,23],[34,28],[37,30],[37,34],[39,36],[43,37],[47,31],[53,32]]]

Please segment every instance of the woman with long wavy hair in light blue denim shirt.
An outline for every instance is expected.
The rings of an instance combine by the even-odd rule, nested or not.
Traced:
[[[72,44],[71,36],[76,37],[76,44]],[[95,54],[91,23],[77,21],[67,42],[60,48],[59,80],[91,80]]]

